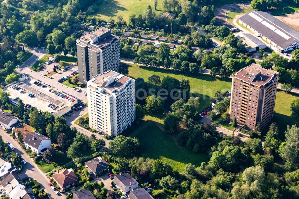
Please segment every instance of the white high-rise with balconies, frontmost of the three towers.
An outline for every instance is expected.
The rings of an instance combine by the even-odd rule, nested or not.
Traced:
[[[117,136],[135,120],[135,80],[107,71],[87,82],[89,127]]]

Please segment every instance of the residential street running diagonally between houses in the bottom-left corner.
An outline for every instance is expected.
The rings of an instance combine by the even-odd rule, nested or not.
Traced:
[[[29,156],[25,153],[21,146],[12,137],[10,137],[10,134],[5,133],[2,128],[0,128],[0,134],[4,142],[9,142],[10,144],[12,144],[15,148],[14,152],[19,153],[27,162],[26,164],[23,164],[23,169],[18,174],[21,178],[33,177],[34,179],[36,179],[41,184],[41,188],[44,188],[45,192],[48,193],[50,198],[66,198],[65,195],[56,195],[54,193],[54,191],[48,186],[48,183],[50,182],[48,178],[46,178],[45,175],[35,166],[33,160],[31,160],[31,158],[29,158]]]

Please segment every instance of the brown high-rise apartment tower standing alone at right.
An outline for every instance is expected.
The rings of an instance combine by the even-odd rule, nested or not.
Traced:
[[[279,73],[251,64],[233,75],[231,88],[231,120],[253,130],[259,120],[269,124],[274,104]]]

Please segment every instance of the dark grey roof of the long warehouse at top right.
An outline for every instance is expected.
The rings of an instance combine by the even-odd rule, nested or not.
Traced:
[[[251,13],[258,16],[262,21],[258,21],[254,19],[251,15]],[[262,12],[262,11],[251,11],[239,18],[242,22],[246,23],[250,27],[252,27],[254,30],[257,30],[260,34],[267,37],[268,39],[271,39],[272,42],[280,46],[281,48],[285,49],[289,45],[292,45],[296,41],[298,41],[299,33],[289,27],[288,25],[284,24],[283,22],[276,19],[274,16],[270,15],[269,13]],[[266,25],[262,24],[263,22],[267,22],[271,26],[273,26],[273,29],[270,29]],[[284,38],[281,34],[276,33],[276,30],[281,31],[282,33],[289,36],[289,39]]]

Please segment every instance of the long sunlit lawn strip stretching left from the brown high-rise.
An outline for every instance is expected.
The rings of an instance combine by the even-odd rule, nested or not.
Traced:
[[[199,102],[202,108],[206,108],[213,102],[214,93],[216,91],[231,90],[231,78],[219,78],[206,74],[182,74],[179,71],[167,70],[163,68],[139,67],[137,65],[129,66],[129,76],[137,79],[142,77],[144,81],[148,82],[149,76],[156,74],[163,78],[164,75],[173,76],[177,79],[189,79],[191,92],[194,97],[199,96]]]

